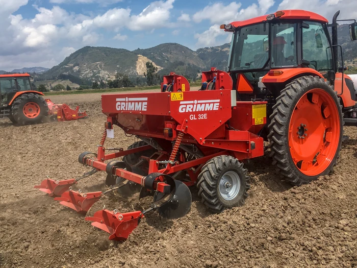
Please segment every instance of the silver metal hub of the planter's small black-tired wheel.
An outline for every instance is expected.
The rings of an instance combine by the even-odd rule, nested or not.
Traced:
[[[239,175],[233,171],[228,171],[223,174],[219,181],[219,193],[224,200],[233,200],[239,193],[240,185]]]

